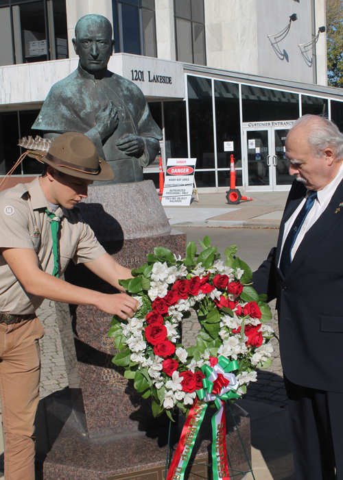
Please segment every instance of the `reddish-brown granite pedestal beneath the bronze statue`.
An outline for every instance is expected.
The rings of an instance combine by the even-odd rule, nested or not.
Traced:
[[[185,256],[186,235],[171,231],[152,181],[89,188],[81,209],[106,251],[122,265],[141,266],[157,246]],[[71,262],[65,279],[115,293],[84,265]],[[123,370],[111,362],[117,353],[108,337],[111,316],[95,307],[62,303],[56,304],[56,312],[69,389],[48,398],[38,412],[38,425],[45,426],[47,436],[37,444],[38,459],[47,453],[44,479],[162,480],[169,420],[154,418],[150,399],[142,399],[123,377]],[[249,450],[246,414],[237,414],[237,422]],[[173,444],[178,434],[174,429]],[[205,434],[197,458],[207,457],[208,449]]]

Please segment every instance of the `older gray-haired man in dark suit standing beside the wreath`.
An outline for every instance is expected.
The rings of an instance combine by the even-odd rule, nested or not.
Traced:
[[[289,130],[286,156],[296,181],[254,287],[277,299],[296,478],[342,480],[343,135],[305,115]]]

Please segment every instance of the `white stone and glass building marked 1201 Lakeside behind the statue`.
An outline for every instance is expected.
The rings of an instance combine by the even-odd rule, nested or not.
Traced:
[[[21,154],[18,139],[36,134],[51,86],[77,68],[71,39],[90,13],[113,24],[108,68],[145,94],[163,163],[196,157],[199,189],[227,189],[233,155],[237,186],[287,190],[284,144],[296,118],[327,114],[343,129],[318,34],[324,0],[0,0],[0,177]],[[40,170],[26,157],[6,186]],[[157,184],[157,172],[156,160],[145,178]]]

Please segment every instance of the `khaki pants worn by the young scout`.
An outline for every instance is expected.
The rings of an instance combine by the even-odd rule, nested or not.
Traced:
[[[34,480],[34,417],[39,401],[40,320],[0,323],[0,398],[5,480]]]

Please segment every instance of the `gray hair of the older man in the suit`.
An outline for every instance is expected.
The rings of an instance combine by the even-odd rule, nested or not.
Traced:
[[[288,135],[299,127],[307,129],[307,142],[316,157],[321,158],[323,151],[330,147],[335,154],[335,160],[342,160],[343,134],[333,121],[320,115],[300,116],[289,129]]]

